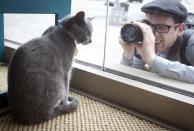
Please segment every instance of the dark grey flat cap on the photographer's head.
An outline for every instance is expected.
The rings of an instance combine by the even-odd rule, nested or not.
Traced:
[[[154,0],[141,8],[142,12],[157,11],[172,15],[180,22],[184,22],[187,18],[187,9],[179,2],[179,0]]]

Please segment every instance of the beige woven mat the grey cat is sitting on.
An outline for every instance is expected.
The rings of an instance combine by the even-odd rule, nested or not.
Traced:
[[[7,67],[0,66],[0,91],[7,87]],[[10,114],[0,117],[0,131],[167,131],[126,112],[75,92],[80,99],[77,111],[38,125],[21,125]]]

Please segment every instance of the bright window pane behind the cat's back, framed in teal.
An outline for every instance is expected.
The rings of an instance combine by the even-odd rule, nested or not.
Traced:
[[[22,44],[39,37],[51,25],[55,25],[55,14],[4,14],[4,38]]]

